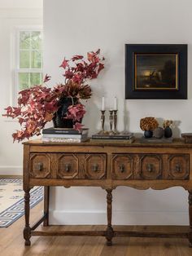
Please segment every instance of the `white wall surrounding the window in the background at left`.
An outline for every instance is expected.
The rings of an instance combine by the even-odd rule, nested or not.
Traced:
[[[28,2],[28,6],[26,5]],[[2,117],[3,108],[11,104],[14,73],[15,29],[42,26],[42,0],[0,1],[0,175],[22,174],[21,143],[13,143],[11,134],[20,126]]]

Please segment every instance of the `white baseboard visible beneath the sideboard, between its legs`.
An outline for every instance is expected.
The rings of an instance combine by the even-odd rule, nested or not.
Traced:
[[[50,210],[53,225],[103,225],[107,223],[105,211]],[[113,211],[114,225],[189,225],[188,212],[178,211]]]

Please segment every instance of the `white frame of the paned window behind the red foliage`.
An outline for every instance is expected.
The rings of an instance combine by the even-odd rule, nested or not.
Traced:
[[[17,105],[18,93],[20,91],[19,85],[19,73],[43,73],[43,67],[41,68],[20,68],[20,32],[22,31],[38,31],[41,32],[42,40],[43,40],[43,30],[40,26],[24,26],[18,27],[15,29],[15,43],[14,43],[14,57],[13,57],[13,88],[11,91],[12,94],[12,105]],[[43,64],[43,63],[42,63]]]

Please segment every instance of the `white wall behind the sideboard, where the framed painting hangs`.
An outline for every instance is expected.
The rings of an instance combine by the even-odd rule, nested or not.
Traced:
[[[62,81],[59,64],[65,55],[85,55],[101,48],[106,68],[92,82],[94,91],[87,104],[85,126],[94,133],[100,127],[101,97],[119,99],[119,130],[140,132],[141,117],[154,116],[180,121],[174,135],[192,130],[192,2],[191,0],[46,0],[44,3],[45,70],[52,83]],[[188,100],[126,100],[124,118],[124,44],[188,43]],[[93,114],[94,113],[94,114]],[[106,223],[105,192],[101,188],[53,188],[52,223]],[[114,223],[185,224],[188,223],[187,193],[182,188],[164,191],[137,191],[116,188]]]

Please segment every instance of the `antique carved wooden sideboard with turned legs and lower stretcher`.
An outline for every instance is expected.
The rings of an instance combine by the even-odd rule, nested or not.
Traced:
[[[44,186],[44,214],[29,226],[29,191]],[[107,229],[104,231],[36,231],[49,226],[50,186],[91,186],[107,191]],[[111,224],[112,190],[117,186],[165,189],[180,186],[189,192],[190,225],[187,232],[116,231]],[[192,246],[192,143],[24,143],[24,240],[31,236],[105,236],[107,245],[115,236],[182,237]]]

